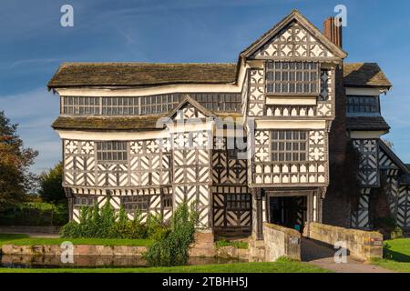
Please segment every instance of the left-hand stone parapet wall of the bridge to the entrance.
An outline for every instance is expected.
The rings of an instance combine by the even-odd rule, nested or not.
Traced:
[[[291,228],[263,224],[265,261],[274,262],[281,256],[301,260],[301,234]]]

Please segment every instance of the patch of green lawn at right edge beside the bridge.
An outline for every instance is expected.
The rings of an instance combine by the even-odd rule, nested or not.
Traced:
[[[384,258],[375,259],[373,264],[397,272],[410,273],[410,238],[385,241]]]

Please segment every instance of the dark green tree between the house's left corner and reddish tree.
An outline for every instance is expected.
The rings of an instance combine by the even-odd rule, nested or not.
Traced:
[[[66,202],[63,183],[63,163],[58,163],[40,175],[40,190],[38,193],[46,202]]]

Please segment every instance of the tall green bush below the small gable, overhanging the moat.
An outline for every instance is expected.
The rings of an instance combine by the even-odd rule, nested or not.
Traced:
[[[171,218],[170,227],[157,228],[152,236],[154,243],[145,258],[149,266],[179,266],[188,262],[190,245],[195,240],[198,212],[193,206],[181,204]]]

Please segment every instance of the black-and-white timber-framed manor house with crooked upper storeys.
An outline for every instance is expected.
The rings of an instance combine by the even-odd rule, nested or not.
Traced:
[[[202,231],[261,239],[263,222],[372,229],[383,192],[409,228],[410,169],[381,139],[391,84],[346,56],[333,18],[322,32],[293,10],[236,64],[61,65],[48,88],[61,100],[53,128],[70,218],[109,201],[130,218],[168,219],[195,201]],[[349,145],[360,156],[355,204],[330,175]]]

